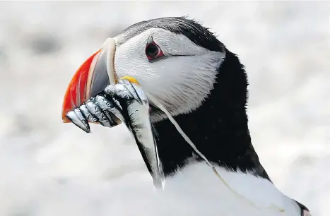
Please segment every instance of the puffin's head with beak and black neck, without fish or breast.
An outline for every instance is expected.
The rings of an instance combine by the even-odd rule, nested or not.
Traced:
[[[68,112],[125,76],[170,112],[209,161],[234,170],[257,170],[269,179],[249,136],[244,66],[207,28],[184,17],[157,18],[107,38],[71,79],[62,108],[64,122],[71,122]],[[167,116],[153,102],[149,105],[159,157],[165,174],[171,174],[195,152]]]

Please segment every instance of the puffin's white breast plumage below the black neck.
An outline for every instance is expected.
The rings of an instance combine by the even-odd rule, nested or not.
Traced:
[[[126,184],[129,195],[114,194],[112,201],[125,200],[129,205],[116,209],[115,203],[110,202],[110,208],[116,209],[116,215],[131,215],[133,211],[134,215],[143,216],[300,216],[297,203],[270,181],[252,174],[228,172],[221,167],[217,167],[217,171],[240,196],[232,193],[205,162],[199,162],[168,177],[165,191],[154,191],[152,181],[141,188]],[[137,194],[139,196],[134,196]]]

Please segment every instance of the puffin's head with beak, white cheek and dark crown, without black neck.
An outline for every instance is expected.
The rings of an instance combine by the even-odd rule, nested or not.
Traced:
[[[206,100],[225,59],[225,47],[207,28],[184,17],[131,25],[108,38],[78,69],[66,91],[65,114],[118,78],[135,78],[172,114],[193,112]],[[151,102],[151,121],[166,116]]]

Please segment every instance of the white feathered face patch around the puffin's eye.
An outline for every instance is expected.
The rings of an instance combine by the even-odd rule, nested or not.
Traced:
[[[150,36],[168,56],[166,59],[148,61],[145,50]],[[119,44],[124,38],[118,35],[114,40]],[[193,111],[206,99],[224,57],[225,53],[199,47],[184,35],[151,28],[117,46],[114,69],[119,78],[136,78],[143,90],[150,92],[175,116]],[[165,117],[153,114],[151,120],[160,121]]]

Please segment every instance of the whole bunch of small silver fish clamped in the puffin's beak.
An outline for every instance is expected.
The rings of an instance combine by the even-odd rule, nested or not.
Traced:
[[[108,85],[101,94],[91,97],[86,104],[68,112],[66,116],[87,133],[90,132],[88,122],[106,127],[124,122],[153,176],[153,184],[163,188],[165,176],[158,157],[149,109],[148,98],[140,85],[119,80],[116,85]]]

